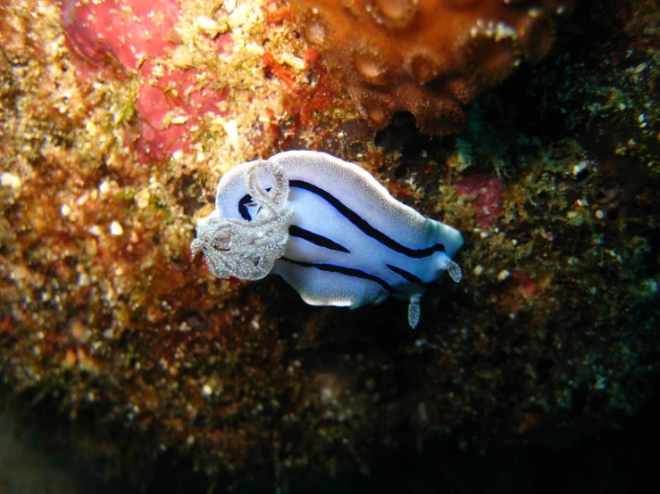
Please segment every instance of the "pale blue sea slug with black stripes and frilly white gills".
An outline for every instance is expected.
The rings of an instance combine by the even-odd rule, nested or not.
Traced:
[[[193,255],[219,278],[282,276],[310,305],[355,309],[394,295],[408,323],[451,258],[460,232],[398,202],[359,166],[324,152],[288,151],[243,163],[218,183],[215,210],[199,220]]]

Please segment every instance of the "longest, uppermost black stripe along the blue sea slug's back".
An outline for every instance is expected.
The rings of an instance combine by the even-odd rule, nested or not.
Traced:
[[[371,226],[369,222],[367,222],[354,210],[348,208],[346,204],[339,201],[334,195],[332,195],[328,191],[323,190],[321,187],[310,184],[309,182],[305,182],[304,180],[289,180],[288,185],[292,187],[297,187],[299,189],[304,189],[311,193],[315,193],[316,195],[324,199],[326,202],[329,202],[330,205],[334,209],[338,210],[338,212],[341,215],[343,215],[345,218],[347,218],[348,221],[350,221],[355,226],[360,228],[363,231],[364,235],[369,235],[370,237],[372,237],[372,239],[377,240],[378,242],[382,243],[392,251],[397,251],[401,254],[404,254],[405,256],[408,256],[409,258],[414,258],[414,259],[429,257],[430,255],[433,254],[433,252],[445,251],[445,246],[442,243],[434,243],[430,247],[426,247],[424,249],[411,249],[410,247],[405,247],[405,245],[401,245],[393,238],[389,237],[388,235],[385,235],[380,230],[377,230],[376,228]]]

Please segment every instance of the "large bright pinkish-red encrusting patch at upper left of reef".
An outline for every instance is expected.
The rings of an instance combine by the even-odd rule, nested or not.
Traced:
[[[135,107],[142,132],[137,147],[144,161],[160,161],[187,150],[192,129],[206,113],[221,114],[216,103],[227,98],[226,91],[198,82],[202,70],[155,64],[159,58],[167,60],[178,46],[174,27],[179,15],[177,0],[63,0],[62,4],[64,34],[77,55],[80,77],[101,73],[121,79],[128,72],[138,74],[141,87]],[[221,35],[214,41],[220,53],[230,37]]]

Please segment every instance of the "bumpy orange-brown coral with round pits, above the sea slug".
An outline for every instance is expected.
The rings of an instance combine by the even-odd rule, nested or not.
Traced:
[[[298,25],[376,127],[410,111],[455,132],[463,105],[550,49],[572,0],[298,0]]]

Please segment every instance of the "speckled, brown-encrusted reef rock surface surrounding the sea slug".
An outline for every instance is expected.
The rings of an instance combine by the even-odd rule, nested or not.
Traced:
[[[301,473],[368,473],[447,434],[473,451],[493,436],[556,445],[558,431],[617,427],[647,401],[660,368],[660,66],[635,12],[652,17],[651,2],[626,3],[627,17],[620,2],[577,4],[556,56],[486,92],[458,136],[430,138],[406,116],[378,133],[360,119],[292,4],[163,3],[178,12],[163,20],[171,34],[140,64],[86,19],[107,12],[115,33],[138,29],[127,7],[150,14],[109,1],[121,14],[0,0],[0,368],[71,424],[90,470],[144,486],[185,465],[209,490],[232,474],[284,489]],[[149,128],[140,95],[192,80],[211,108],[166,102],[196,125],[170,122],[180,138],[169,117]],[[417,330],[403,301],[313,308],[276,276],[217,280],[191,259],[222,174],[299,148],[359,163],[463,233],[464,280],[428,288]]]

